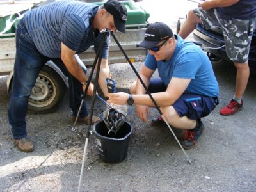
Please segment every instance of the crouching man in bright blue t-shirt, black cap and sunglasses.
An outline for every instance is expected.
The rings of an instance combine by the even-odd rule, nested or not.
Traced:
[[[186,130],[182,147],[193,148],[204,130],[200,118],[218,104],[219,87],[209,58],[161,22],[148,26],[139,45],[149,50],[141,79],[168,123]],[[160,78],[151,79],[156,69]],[[109,93],[109,102],[136,104],[138,117],[147,122],[148,106],[154,106],[152,100],[138,80],[131,85],[131,93]]]

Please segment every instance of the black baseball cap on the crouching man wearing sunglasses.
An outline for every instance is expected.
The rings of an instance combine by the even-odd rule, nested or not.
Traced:
[[[138,46],[146,49],[156,47],[159,42],[173,36],[172,29],[163,22],[155,22],[148,26],[145,31],[144,40]]]

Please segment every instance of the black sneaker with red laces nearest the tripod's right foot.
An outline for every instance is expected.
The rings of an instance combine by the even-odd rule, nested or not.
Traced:
[[[198,119],[198,124],[195,129],[190,129],[185,132],[184,140],[181,142],[181,145],[184,149],[190,149],[195,147],[198,139],[200,138],[202,132],[204,131],[204,124]]]

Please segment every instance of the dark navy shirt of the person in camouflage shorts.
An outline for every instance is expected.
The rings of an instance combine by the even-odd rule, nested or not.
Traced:
[[[236,4],[218,8],[220,17],[225,20],[249,20],[256,17],[256,0],[240,0]]]

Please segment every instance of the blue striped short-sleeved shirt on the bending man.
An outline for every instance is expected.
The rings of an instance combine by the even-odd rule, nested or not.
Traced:
[[[57,1],[25,13],[28,33],[38,51],[49,58],[61,57],[61,42],[76,53],[84,52],[91,45],[99,47],[102,34],[95,35],[93,17],[99,6],[79,1]],[[102,58],[108,58],[108,34]]]

